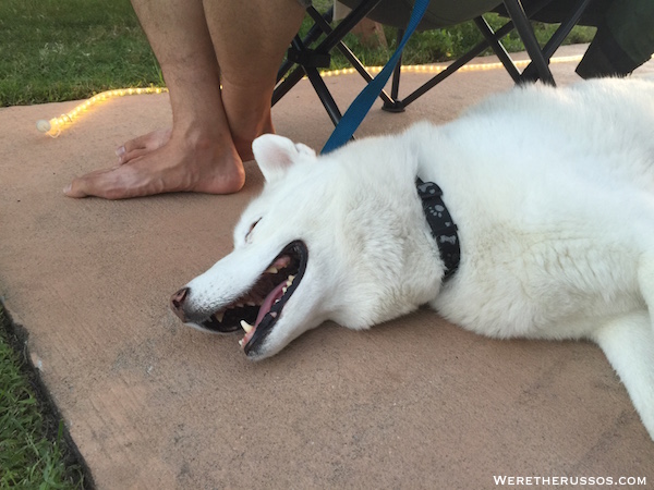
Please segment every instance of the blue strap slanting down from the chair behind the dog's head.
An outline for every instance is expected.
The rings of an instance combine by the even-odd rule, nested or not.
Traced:
[[[388,63],[384,66],[384,69],[379,72],[377,76],[375,76],[366,87],[356,96],[354,101],[350,105],[337,126],[334,128],[331,136],[323,147],[322,154],[327,154],[331,150],[335,150],[339,146],[344,145],[350,140],[365,114],[368,113],[371,107],[375,102],[375,99],[379,96],[384,86],[388,82],[390,74],[392,73],[396,64],[398,64],[398,60],[402,54],[402,49],[404,49],[404,45],[420,24],[427,7],[429,4],[429,0],[415,0],[413,4],[413,10],[411,11],[411,19],[409,20],[409,25],[407,26],[407,30],[404,32],[404,36],[402,40],[398,45],[396,52],[390,57]]]

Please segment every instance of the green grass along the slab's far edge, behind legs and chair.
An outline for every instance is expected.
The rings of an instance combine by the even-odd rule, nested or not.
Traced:
[[[323,9],[330,0],[317,0]],[[494,28],[506,22],[488,15]],[[308,25],[305,22],[304,28]],[[555,26],[534,24],[540,39]],[[1,0],[0,107],[90,97],[119,87],[164,86],[161,72],[129,0]],[[593,28],[577,27],[568,42],[589,41]],[[346,42],[368,65],[382,65],[395,49],[395,32],[386,30],[389,49],[365,49],[354,36]],[[416,33],[404,63],[420,64],[458,57],[481,40],[472,23]],[[521,50],[512,35],[509,50]],[[347,66],[340,56],[332,68]]]

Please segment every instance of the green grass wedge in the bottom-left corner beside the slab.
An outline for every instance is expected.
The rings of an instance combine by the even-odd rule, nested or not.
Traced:
[[[0,488],[84,488],[63,422],[37,396],[34,375],[0,305]]]

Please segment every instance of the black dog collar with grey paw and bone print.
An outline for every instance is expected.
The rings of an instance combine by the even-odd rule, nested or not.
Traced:
[[[423,182],[415,179],[417,195],[423,204],[423,211],[432,235],[436,238],[440,258],[445,265],[443,281],[447,281],[459,268],[461,250],[459,248],[459,235],[452,217],[443,203],[443,191],[433,182]]]

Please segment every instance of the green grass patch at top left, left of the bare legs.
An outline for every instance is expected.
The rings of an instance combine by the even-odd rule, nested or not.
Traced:
[[[2,0],[0,33],[0,107],[162,85],[130,0]]]

